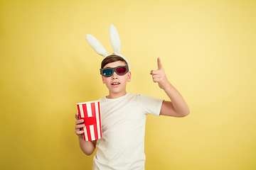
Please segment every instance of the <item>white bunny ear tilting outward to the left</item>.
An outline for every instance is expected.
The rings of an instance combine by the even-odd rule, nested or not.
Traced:
[[[103,57],[107,57],[107,51],[102,46],[99,40],[97,40],[93,35],[87,34],[86,40],[89,43],[89,45],[97,52],[99,55],[102,55]]]

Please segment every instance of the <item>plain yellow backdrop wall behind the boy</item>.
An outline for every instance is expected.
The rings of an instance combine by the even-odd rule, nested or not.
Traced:
[[[0,169],[91,169],[75,103],[107,95],[95,35],[119,31],[127,91],[167,99],[151,80],[161,57],[191,109],[149,115],[146,169],[256,169],[256,1],[1,1]],[[95,154],[95,153],[94,153]]]

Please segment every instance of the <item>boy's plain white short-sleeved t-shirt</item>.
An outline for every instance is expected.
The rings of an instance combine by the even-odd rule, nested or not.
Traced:
[[[146,114],[159,116],[163,100],[127,93],[120,98],[100,98],[102,138],[92,169],[144,169]]]

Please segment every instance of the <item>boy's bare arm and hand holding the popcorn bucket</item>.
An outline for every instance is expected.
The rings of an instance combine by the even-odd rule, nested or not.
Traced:
[[[85,124],[81,124],[81,123],[83,123],[84,120],[78,119],[78,113],[75,114],[75,118],[76,118],[75,134],[78,135],[80,148],[82,149],[82,152],[84,152],[85,154],[87,154],[89,156],[95,151],[97,140],[85,141],[82,137],[82,134],[84,133],[84,131],[80,130],[80,128],[85,127]]]

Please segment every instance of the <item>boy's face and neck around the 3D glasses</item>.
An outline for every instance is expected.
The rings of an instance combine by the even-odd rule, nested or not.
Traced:
[[[125,62],[117,61],[106,64],[103,68],[114,68],[125,65]],[[106,84],[107,89],[109,89],[110,96],[124,96],[126,94],[127,81],[131,81],[131,72],[127,72],[127,74],[124,75],[118,75],[116,72],[114,72],[111,77],[102,76],[102,81],[103,84]]]

